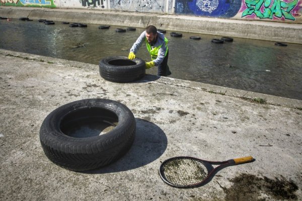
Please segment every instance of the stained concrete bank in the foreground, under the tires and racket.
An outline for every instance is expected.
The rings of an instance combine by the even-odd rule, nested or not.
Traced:
[[[113,83],[97,65],[1,49],[0,66],[0,200],[302,200],[300,100],[153,75]],[[72,172],[48,160],[39,130],[51,111],[85,98],[125,104],[136,137],[115,163]],[[181,155],[255,161],[179,189],[158,168]]]

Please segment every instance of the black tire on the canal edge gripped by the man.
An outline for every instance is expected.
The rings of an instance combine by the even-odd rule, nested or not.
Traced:
[[[145,62],[140,58],[133,60],[124,56],[108,57],[100,61],[100,75],[112,82],[131,82],[145,75]]]

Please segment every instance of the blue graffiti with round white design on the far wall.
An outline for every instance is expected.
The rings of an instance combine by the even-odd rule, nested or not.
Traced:
[[[234,17],[241,0],[176,0],[175,13],[210,17]]]

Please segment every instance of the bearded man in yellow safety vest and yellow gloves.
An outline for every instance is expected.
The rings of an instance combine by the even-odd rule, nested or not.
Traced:
[[[130,49],[128,58],[135,59],[135,54],[142,45],[146,43],[147,50],[151,56],[152,61],[146,62],[146,69],[153,66],[158,66],[158,75],[159,76],[168,76],[171,75],[169,70],[168,57],[168,39],[164,34],[157,31],[157,28],[153,25],[150,25],[143,31],[136,42]]]

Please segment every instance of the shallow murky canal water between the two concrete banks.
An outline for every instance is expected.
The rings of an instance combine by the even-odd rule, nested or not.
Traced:
[[[98,27],[0,20],[0,48],[98,64],[108,56],[127,56],[144,30],[118,33],[116,28],[126,27]],[[216,44],[211,40],[221,36],[180,32],[183,36],[178,38],[170,33],[167,30],[165,34],[169,40],[170,77],[302,100],[301,44],[282,47],[272,41],[241,38]],[[199,36],[201,40],[192,40],[190,36]],[[150,61],[145,45],[137,57]],[[146,72],[157,74],[157,69]]]

